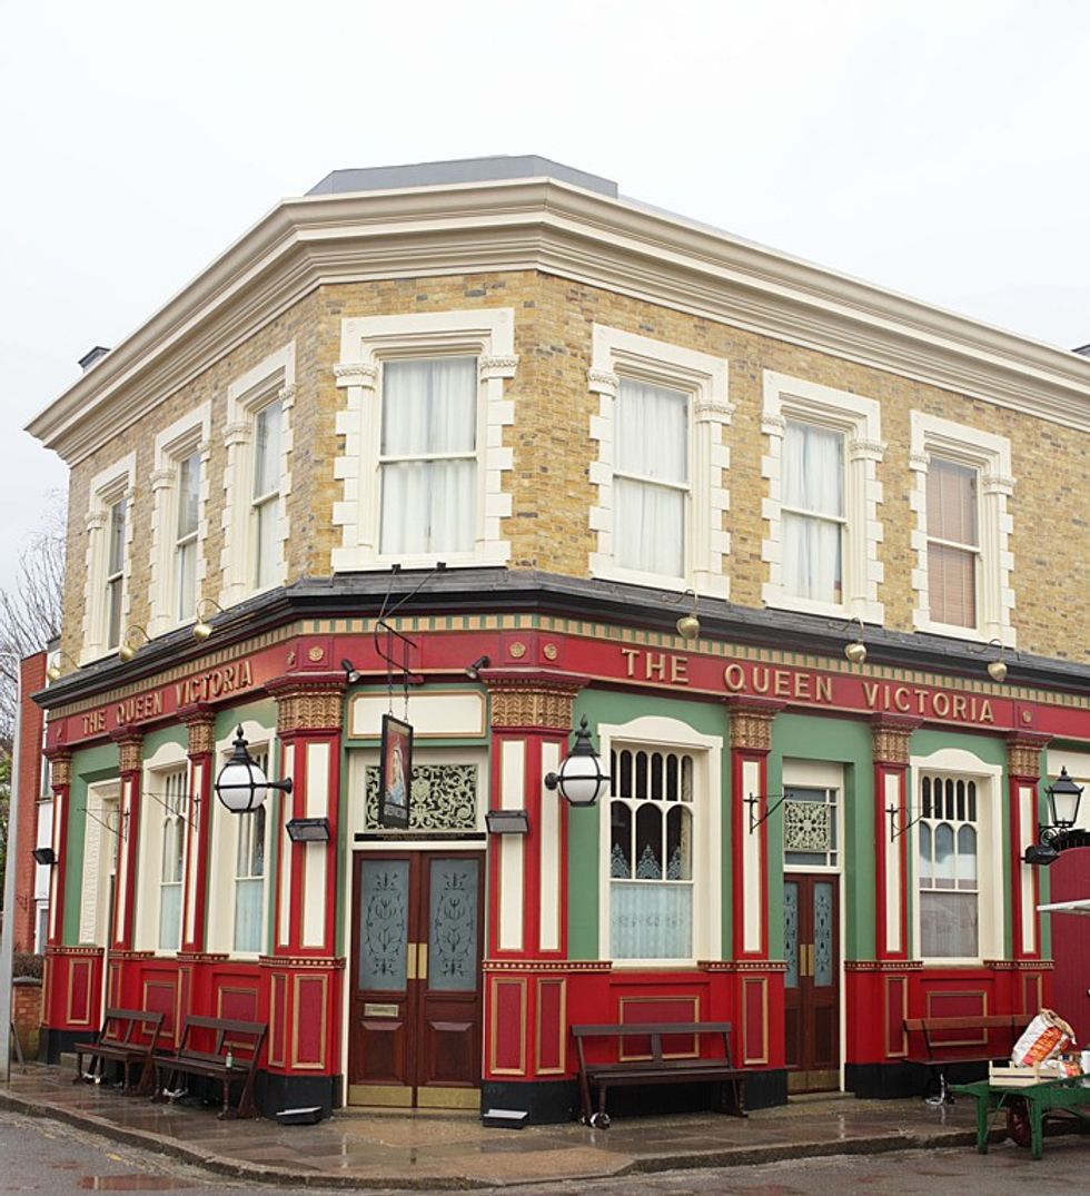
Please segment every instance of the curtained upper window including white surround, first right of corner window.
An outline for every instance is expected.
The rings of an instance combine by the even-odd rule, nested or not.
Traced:
[[[727,597],[727,362],[595,324],[588,384],[600,396],[592,573]]]

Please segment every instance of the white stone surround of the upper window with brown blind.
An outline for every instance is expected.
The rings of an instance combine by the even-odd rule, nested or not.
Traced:
[[[1015,490],[1010,440],[923,411],[912,411],[910,447],[908,468],[914,478],[910,501],[916,512],[916,527],[912,531],[912,547],[916,550],[916,568],[912,570],[912,588],[916,592],[913,626],[937,635],[985,642],[999,640],[1006,647],[1015,647],[1016,635],[1011,626],[1011,611],[1015,609],[1015,592],[1011,588],[1015,557],[1010,550],[1014,521],[1008,511],[1008,499]],[[979,474],[976,627],[931,621],[927,592],[927,465],[932,454],[967,465]]]

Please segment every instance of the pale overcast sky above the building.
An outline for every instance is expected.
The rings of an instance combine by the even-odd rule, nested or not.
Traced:
[[[0,586],[26,421],[330,170],[538,153],[939,306],[1090,341],[1082,0],[0,0]]]

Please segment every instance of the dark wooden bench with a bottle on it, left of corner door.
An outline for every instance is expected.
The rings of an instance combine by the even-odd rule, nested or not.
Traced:
[[[178,1049],[155,1061],[159,1072],[155,1099],[176,1099],[182,1075],[218,1080],[222,1085],[220,1117],[249,1117],[253,1112],[253,1081],[268,1026],[263,1021],[231,1018],[185,1019]],[[239,1102],[231,1106],[231,1085],[240,1084]]]

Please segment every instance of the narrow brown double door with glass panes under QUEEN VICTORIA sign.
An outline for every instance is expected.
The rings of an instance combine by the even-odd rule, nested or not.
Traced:
[[[839,885],[829,874],[784,877],[789,1092],[840,1087]]]

